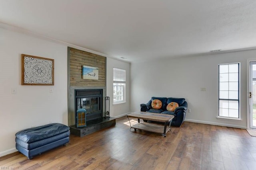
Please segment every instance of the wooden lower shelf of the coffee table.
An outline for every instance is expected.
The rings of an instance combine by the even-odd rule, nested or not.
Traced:
[[[164,125],[158,125],[155,123],[146,123],[146,122],[136,123],[136,124],[132,125],[131,128],[134,128],[135,131],[136,131],[136,129],[141,129],[144,131],[161,133],[164,135],[164,137],[166,137],[166,133],[170,130],[170,127],[166,127],[166,133],[164,133]]]

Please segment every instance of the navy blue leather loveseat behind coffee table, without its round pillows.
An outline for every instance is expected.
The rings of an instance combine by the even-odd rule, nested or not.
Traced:
[[[160,109],[153,109],[151,106],[151,103],[153,100],[158,99],[162,102],[162,107]],[[176,107],[174,111],[168,111],[166,109],[167,105],[170,102],[176,102],[178,103],[179,107]],[[188,109],[188,103],[185,101],[184,98],[158,98],[158,97],[152,97],[150,101],[146,104],[140,104],[140,111],[146,111],[146,112],[152,112],[152,113],[160,113],[160,114],[168,114],[168,115],[174,115],[174,118],[172,119],[172,126],[180,127],[182,125],[185,116],[186,111]],[[148,120],[144,120],[148,121]],[[152,121],[151,121],[152,122]],[[157,122],[154,122],[157,123]]]

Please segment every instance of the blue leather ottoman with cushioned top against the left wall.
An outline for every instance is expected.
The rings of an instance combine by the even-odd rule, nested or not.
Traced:
[[[61,123],[24,129],[15,134],[16,149],[32,159],[33,156],[69,142],[69,127]]]

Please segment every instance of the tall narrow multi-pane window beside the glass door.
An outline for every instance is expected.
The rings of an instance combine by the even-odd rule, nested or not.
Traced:
[[[240,118],[240,63],[219,64],[219,117]]]

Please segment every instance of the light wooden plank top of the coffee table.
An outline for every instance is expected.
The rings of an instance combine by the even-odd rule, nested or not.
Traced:
[[[138,118],[138,119],[147,119],[151,121],[159,122],[169,122],[174,118],[174,115],[160,114],[160,113],[150,113],[144,111],[138,111],[134,113],[129,113],[128,117]]]

